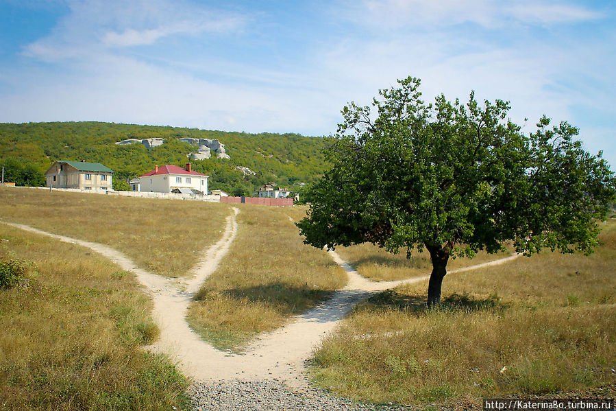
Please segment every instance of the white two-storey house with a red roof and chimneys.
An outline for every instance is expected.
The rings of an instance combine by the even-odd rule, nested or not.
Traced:
[[[208,193],[208,176],[193,172],[190,163],[186,168],[177,165],[158,165],[138,181],[131,180],[133,191],[151,191],[154,193]]]

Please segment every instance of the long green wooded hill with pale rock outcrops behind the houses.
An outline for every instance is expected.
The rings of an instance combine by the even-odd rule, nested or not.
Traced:
[[[121,182],[148,172],[154,165],[184,166],[195,146],[179,139],[218,139],[230,159],[191,160],[193,170],[210,176],[212,189],[250,193],[266,183],[299,189],[325,169],[326,139],[300,134],[223,132],[170,126],[139,126],[97,121],[53,123],[0,123],[0,166],[5,180],[17,185],[45,185],[42,173],[56,160],[102,163]],[[125,139],[165,140],[151,150],[141,144],[116,145]],[[248,167],[256,175],[244,175]]]

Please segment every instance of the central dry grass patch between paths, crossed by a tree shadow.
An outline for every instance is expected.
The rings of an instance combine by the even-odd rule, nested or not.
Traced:
[[[238,234],[219,269],[190,306],[188,322],[219,349],[241,350],[346,283],[323,250],[301,242],[288,217],[300,211],[245,206]]]

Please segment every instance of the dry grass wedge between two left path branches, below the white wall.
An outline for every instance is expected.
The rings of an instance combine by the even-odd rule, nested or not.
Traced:
[[[139,266],[181,277],[221,237],[227,204],[0,187],[0,216],[112,246]]]

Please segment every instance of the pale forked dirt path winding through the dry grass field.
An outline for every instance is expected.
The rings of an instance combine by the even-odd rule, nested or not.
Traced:
[[[216,270],[219,262],[230,248],[237,232],[235,207],[233,214],[227,217],[225,231],[219,241],[210,246],[204,257],[191,270],[190,279],[167,279],[138,268],[123,253],[103,244],[86,242],[63,235],[40,231],[24,224],[5,222],[10,226],[21,228],[41,235],[47,235],[63,242],[78,244],[95,250],[136,274],[138,281],[145,286],[153,298],[153,318],[160,328],[160,338],[149,347],[151,351],[166,353],[171,356],[186,375],[197,380],[219,381],[223,379],[277,379],[295,387],[306,386],[303,376],[305,361],[312,349],[338,325],[340,320],[354,305],[371,294],[381,292],[403,283],[426,281],[428,277],[417,277],[402,281],[370,281],[347,264],[341,257],[330,255],[347,272],[347,285],[335,292],[331,298],[304,314],[289,319],[287,325],[273,332],[262,333],[249,344],[245,353],[238,355],[214,349],[201,340],[186,322],[186,311],[206,278]],[[293,221],[291,218],[289,220]],[[497,261],[476,266],[452,270],[449,273],[473,270],[484,266],[506,263],[519,255],[513,255]]]

